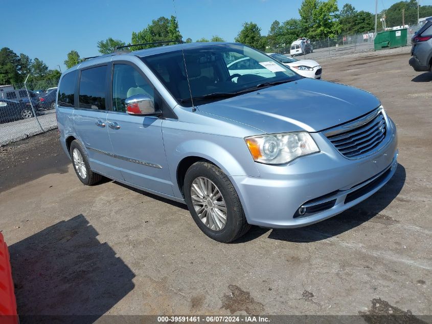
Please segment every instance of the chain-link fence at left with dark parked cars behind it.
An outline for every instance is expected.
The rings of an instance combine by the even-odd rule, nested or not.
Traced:
[[[58,79],[0,85],[0,146],[57,127],[57,84]]]

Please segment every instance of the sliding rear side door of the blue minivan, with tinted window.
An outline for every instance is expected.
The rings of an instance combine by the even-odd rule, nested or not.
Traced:
[[[112,157],[107,126],[107,66],[81,71],[79,108],[74,110],[76,133],[86,148],[90,168],[111,178],[122,180]]]

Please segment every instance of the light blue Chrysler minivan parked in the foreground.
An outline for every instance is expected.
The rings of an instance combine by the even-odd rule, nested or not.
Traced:
[[[241,58],[242,71],[262,69],[230,71]],[[373,195],[397,166],[396,127],[375,96],[304,78],[242,44],[89,59],[62,74],[56,105],[60,142],[83,184],[104,176],[187,204],[219,242],[251,225],[330,218]]]

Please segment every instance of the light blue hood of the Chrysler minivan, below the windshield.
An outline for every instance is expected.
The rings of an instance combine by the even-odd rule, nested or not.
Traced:
[[[369,92],[303,78],[198,106],[203,113],[246,124],[264,133],[308,131],[345,123],[380,104]]]

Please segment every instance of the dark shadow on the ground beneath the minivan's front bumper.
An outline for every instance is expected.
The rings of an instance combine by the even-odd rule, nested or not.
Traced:
[[[393,223],[395,222],[394,220],[390,217],[380,215],[380,212],[399,195],[405,183],[405,178],[405,168],[401,164],[398,164],[392,179],[375,192],[373,196],[330,219],[309,226],[291,229],[268,229],[253,226],[248,233],[233,243],[248,242],[267,232],[270,232],[268,234],[269,239],[310,243],[339,235],[373,218],[379,218],[379,222],[382,223]]]

